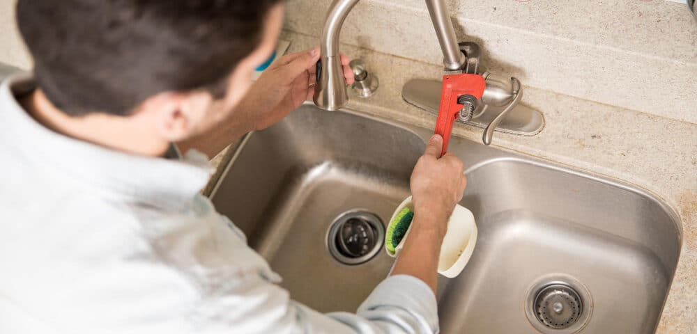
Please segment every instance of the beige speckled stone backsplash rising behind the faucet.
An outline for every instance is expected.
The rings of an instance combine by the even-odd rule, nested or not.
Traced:
[[[662,0],[446,0],[458,40],[526,86],[697,123],[697,23]],[[317,36],[329,0],[290,0],[285,29]],[[310,14],[312,13],[312,14]],[[443,55],[422,0],[362,0],[341,41],[427,63]],[[524,100],[524,97],[523,97]]]

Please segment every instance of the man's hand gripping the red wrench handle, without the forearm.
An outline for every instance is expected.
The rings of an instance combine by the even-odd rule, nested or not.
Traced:
[[[414,213],[431,216],[438,222],[439,232],[445,234],[447,220],[467,185],[460,159],[446,153],[438,158],[443,147],[443,138],[431,137],[426,152],[420,157],[411,175],[411,195]]]

